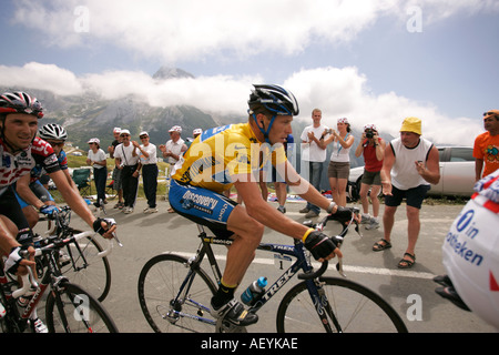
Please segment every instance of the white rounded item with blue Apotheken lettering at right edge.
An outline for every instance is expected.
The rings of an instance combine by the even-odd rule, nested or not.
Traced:
[[[499,329],[499,170],[475,191],[444,241],[442,262],[466,305]]]

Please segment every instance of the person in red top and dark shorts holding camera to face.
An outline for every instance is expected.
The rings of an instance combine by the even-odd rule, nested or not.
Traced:
[[[364,174],[360,181],[360,202],[363,204],[363,223],[367,224],[366,230],[379,227],[379,200],[378,194],[381,191],[383,159],[385,156],[386,142],[378,136],[378,130],[374,124],[364,126],[360,143],[355,150],[355,156],[364,155]],[[373,217],[369,215],[369,194],[373,203]]]

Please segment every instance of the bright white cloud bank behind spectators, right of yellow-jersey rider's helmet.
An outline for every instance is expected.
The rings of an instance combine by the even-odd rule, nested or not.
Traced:
[[[356,68],[319,68],[302,70],[284,82],[301,104],[301,120],[309,120],[312,110],[323,111],[323,122],[336,126],[337,119],[347,116],[353,126],[361,129],[375,123],[380,132],[398,136],[401,122],[407,116],[422,121],[422,134],[439,144],[472,145],[483,131],[476,118],[449,118],[438,112],[431,103],[416,102],[388,92],[375,95],[369,92],[367,78]]]

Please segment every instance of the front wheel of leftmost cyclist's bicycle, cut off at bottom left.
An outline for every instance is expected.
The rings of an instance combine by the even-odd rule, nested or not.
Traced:
[[[50,333],[118,333],[101,303],[69,282],[49,293],[45,320]]]

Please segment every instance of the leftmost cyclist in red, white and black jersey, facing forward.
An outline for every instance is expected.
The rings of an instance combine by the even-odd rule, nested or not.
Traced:
[[[32,252],[32,231],[16,199],[13,184],[30,180],[37,161],[43,161],[47,171],[55,176],[55,183],[65,179],[59,169],[57,156],[47,142],[35,139],[38,120],[43,109],[35,98],[24,92],[7,92],[0,95],[0,251],[9,255],[6,271],[26,273],[20,265],[32,265],[20,257],[21,250]],[[53,178],[52,178],[53,179]],[[113,220],[95,219],[86,203],[73,189],[61,190],[71,207],[104,237],[111,239],[116,229]],[[43,211],[43,209],[42,209]],[[89,211],[89,213],[86,213]]]

